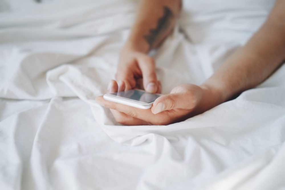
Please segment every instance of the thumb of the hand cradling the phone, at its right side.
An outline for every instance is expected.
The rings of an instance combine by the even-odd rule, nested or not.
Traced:
[[[188,93],[174,93],[166,94],[157,98],[152,107],[151,111],[154,114],[160,113],[165,110],[172,109],[184,109],[191,110],[196,106],[197,99],[195,96],[191,96]]]

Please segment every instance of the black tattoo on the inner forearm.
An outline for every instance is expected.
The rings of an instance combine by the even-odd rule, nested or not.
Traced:
[[[161,40],[161,37],[169,28],[171,19],[173,18],[174,15],[172,11],[168,7],[164,7],[163,16],[158,19],[156,28],[150,29],[149,34],[144,36],[144,39],[148,43],[150,49],[156,41]]]

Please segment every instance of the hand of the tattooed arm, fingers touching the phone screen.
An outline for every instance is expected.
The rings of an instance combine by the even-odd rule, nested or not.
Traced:
[[[118,91],[142,88],[139,80],[143,79],[146,92],[160,93],[154,59],[134,48],[125,46],[122,49],[115,78],[118,81]]]

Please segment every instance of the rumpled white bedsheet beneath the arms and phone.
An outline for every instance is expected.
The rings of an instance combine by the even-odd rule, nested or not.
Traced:
[[[272,3],[184,1],[155,55],[162,92],[201,84]],[[285,189],[284,65],[186,121],[122,126],[94,99],[114,78],[137,2],[0,5],[0,189]]]

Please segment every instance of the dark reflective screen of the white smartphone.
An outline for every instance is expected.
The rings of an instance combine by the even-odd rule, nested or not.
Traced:
[[[124,97],[124,98],[129,98],[132,100],[137,100],[140,102],[145,102],[145,103],[154,102],[154,100],[156,100],[156,98],[160,96],[157,94],[151,94],[151,93],[143,92],[140,90],[128,90],[128,91],[122,91],[122,92],[115,92],[111,94]]]

